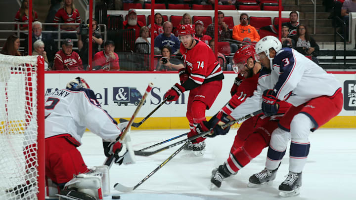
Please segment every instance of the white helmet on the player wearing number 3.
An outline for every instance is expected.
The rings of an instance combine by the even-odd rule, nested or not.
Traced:
[[[256,43],[256,54],[265,52],[266,56],[269,57],[269,49],[273,48],[276,52],[278,52],[282,48],[282,43],[278,40],[278,38],[274,36],[266,36]]]

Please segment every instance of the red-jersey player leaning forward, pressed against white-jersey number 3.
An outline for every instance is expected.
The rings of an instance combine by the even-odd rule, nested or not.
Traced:
[[[257,89],[260,74],[265,72],[261,70],[261,64],[254,59],[255,47],[252,45],[242,46],[233,57],[233,70],[239,73],[236,84],[232,86],[232,98],[229,103],[219,112],[219,116],[233,119],[231,111],[242,104],[246,98],[251,97]],[[261,151],[268,147],[272,131],[277,128],[278,121],[288,108],[286,102],[278,102],[279,112],[277,116],[266,117],[263,114],[252,117],[244,121],[237,131],[234,143],[231,147],[228,159],[218,168],[213,169],[211,182],[220,187],[224,178],[231,174],[236,174],[242,167],[246,166],[253,158],[258,156]],[[214,117],[209,122],[214,121]],[[204,124],[200,124],[203,126]],[[213,124],[212,124],[213,125]],[[200,127],[200,126],[199,126]],[[224,134],[227,131],[222,130]],[[217,132],[215,132],[215,136]]]

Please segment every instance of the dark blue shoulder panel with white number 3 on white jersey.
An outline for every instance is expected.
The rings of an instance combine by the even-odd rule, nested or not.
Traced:
[[[279,66],[279,77],[276,85],[273,89],[277,90],[277,96],[279,90],[288,81],[290,74],[295,67],[295,59],[291,48],[282,48],[273,58],[273,66]]]

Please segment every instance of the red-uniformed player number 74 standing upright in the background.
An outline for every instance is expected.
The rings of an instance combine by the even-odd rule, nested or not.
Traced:
[[[180,40],[179,52],[183,55],[185,68],[178,70],[180,83],[167,91],[169,101],[177,101],[181,93],[190,90],[186,117],[189,121],[188,138],[196,134],[195,127],[205,119],[205,110],[210,109],[220,93],[223,84],[223,71],[211,48],[194,38],[194,28],[190,24],[178,27]],[[189,143],[185,150],[193,150],[195,155],[202,155],[205,150],[205,138],[197,138]]]

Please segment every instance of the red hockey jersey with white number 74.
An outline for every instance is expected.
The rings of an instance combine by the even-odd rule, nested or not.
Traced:
[[[215,59],[212,49],[203,41],[197,42],[192,49],[186,49],[180,44],[180,53],[187,64],[189,79],[195,84],[223,80],[223,71],[219,62]]]

